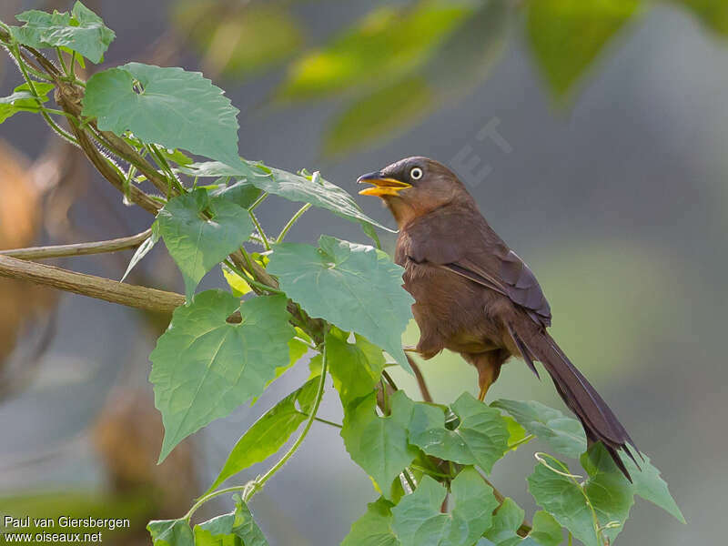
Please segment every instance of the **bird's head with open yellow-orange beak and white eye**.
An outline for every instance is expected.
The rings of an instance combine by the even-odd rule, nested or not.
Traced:
[[[435,208],[471,202],[472,197],[458,177],[428,157],[407,157],[359,177],[359,184],[371,184],[362,196],[381,197],[399,227]]]

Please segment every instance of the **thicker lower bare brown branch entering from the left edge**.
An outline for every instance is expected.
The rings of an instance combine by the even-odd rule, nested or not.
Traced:
[[[94,277],[8,256],[0,256],[0,277],[29,280],[89,298],[157,313],[171,313],[185,303],[185,297],[175,292],[124,284],[110,278]]]

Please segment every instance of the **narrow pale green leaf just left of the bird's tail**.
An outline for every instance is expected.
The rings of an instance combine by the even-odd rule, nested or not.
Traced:
[[[526,430],[546,441],[561,455],[577,459],[586,451],[586,436],[581,423],[565,417],[559,410],[533,400],[499,399],[490,406],[508,411]]]

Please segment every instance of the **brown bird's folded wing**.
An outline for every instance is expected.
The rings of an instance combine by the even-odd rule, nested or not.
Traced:
[[[476,216],[477,215],[477,216]],[[531,269],[493,232],[480,214],[432,215],[407,228],[407,257],[428,262],[507,296],[532,319],[551,326],[551,307]]]

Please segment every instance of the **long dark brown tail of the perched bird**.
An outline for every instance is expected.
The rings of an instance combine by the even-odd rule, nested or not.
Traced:
[[[533,360],[539,360],[549,372],[561,399],[581,421],[590,445],[592,442],[601,441],[617,467],[628,480],[632,481],[618,451],[623,450],[627,453],[639,468],[627,444],[632,446],[636,453],[640,450],[596,389],[581,371],[576,369],[556,341],[536,324],[512,325],[510,330],[513,341],[521,350],[523,359],[530,368],[535,370]]]

